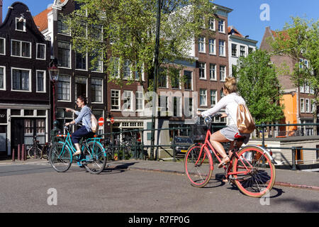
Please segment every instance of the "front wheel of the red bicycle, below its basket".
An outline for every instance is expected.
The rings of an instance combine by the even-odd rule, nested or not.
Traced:
[[[211,154],[201,146],[191,145],[185,155],[184,167],[186,176],[194,187],[204,187],[208,184],[213,173]]]

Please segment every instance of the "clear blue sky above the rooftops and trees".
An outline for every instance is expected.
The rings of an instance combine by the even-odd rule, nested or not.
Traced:
[[[53,3],[53,0],[20,1],[28,6],[33,16]],[[13,2],[15,1],[4,0],[4,18]],[[291,23],[291,16],[300,16],[308,20],[313,18],[315,21],[319,18],[318,0],[214,0],[213,2],[233,9],[228,15],[228,26],[234,26],[242,35],[250,35],[252,40],[257,40],[257,47],[262,42],[267,26],[276,31],[282,30],[285,23]]]

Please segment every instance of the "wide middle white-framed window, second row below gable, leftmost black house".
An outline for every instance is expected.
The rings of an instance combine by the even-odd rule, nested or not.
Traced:
[[[30,73],[31,70],[12,69],[12,90],[30,92]]]

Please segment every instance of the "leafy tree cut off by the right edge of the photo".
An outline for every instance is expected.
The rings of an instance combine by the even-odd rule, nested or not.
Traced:
[[[306,20],[292,17],[292,23],[286,23],[284,30],[277,32],[271,45],[274,55],[286,55],[296,62],[291,74],[294,84],[299,87],[308,84],[313,90],[315,106],[313,122],[317,123],[319,106],[319,20]],[[306,60],[306,61],[305,61]],[[307,64],[308,62],[308,64]],[[314,127],[317,135],[317,127]]]

